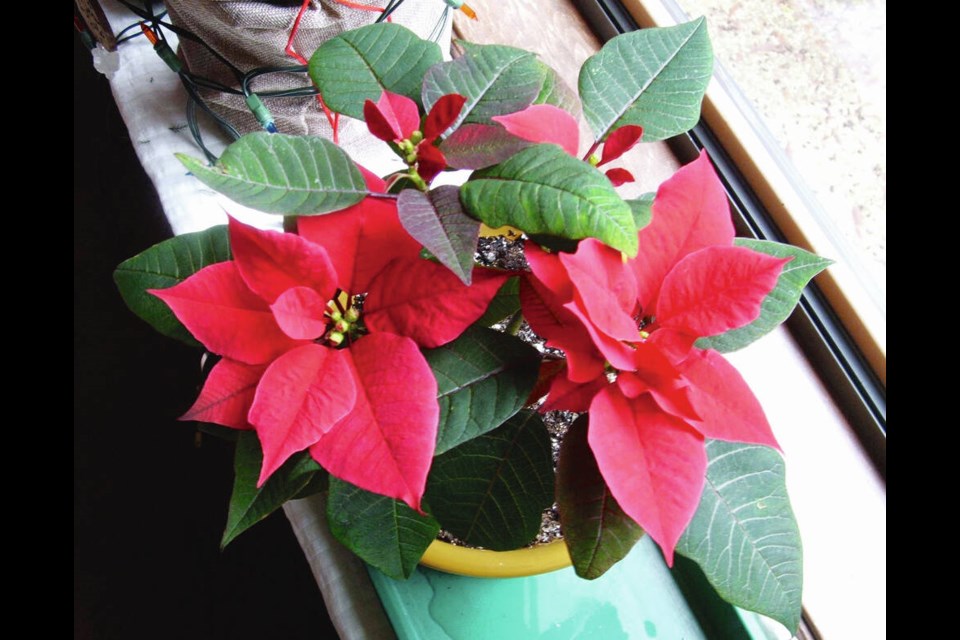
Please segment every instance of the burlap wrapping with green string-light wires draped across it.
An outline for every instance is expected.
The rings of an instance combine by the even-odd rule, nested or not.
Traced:
[[[387,4],[387,0],[358,1],[378,7]],[[243,72],[260,67],[297,64],[285,54],[284,48],[300,2],[167,0],[166,5],[174,24],[202,38]],[[445,20],[448,13],[442,0],[406,0],[391,19],[422,38],[439,34],[437,41],[446,53],[450,48],[450,21],[448,18]],[[336,0],[314,0],[300,22],[294,48],[309,59],[326,40],[343,31],[370,24],[378,15]],[[179,53],[192,73],[239,88],[234,74],[202,45],[180,38]],[[305,74],[270,74],[256,78],[251,89],[254,92],[272,91],[308,84],[309,79]],[[201,94],[211,108],[241,133],[260,129],[242,96],[211,90],[203,90]],[[331,137],[330,125],[315,98],[273,98],[266,104],[281,133]],[[359,135],[356,131],[358,124],[349,118],[341,118],[340,136],[348,146],[349,141]]]

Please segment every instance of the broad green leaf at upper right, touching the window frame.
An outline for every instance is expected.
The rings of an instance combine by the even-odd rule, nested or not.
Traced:
[[[707,24],[619,35],[580,69],[583,113],[598,140],[623,125],[643,127],[644,142],[689,131],[713,73]]]

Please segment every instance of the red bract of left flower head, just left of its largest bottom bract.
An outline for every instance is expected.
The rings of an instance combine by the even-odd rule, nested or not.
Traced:
[[[355,374],[347,351],[306,344],[277,358],[263,374],[250,423],[263,447],[257,486],[354,407]]]

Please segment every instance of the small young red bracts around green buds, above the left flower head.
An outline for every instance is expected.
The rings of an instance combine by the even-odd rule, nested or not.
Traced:
[[[389,91],[384,91],[376,103],[364,102],[363,117],[370,133],[398,144],[401,151],[408,154],[407,163],[416,164],[419,176],[430,182],[447,167],[447,159],[434,143],[457,121],[466,101],[455,93],[441,97],[427,114],[422,132],[417,103]]]

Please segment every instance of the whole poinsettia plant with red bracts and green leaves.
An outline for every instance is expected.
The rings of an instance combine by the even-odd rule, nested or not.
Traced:
[[[328,140],[269,133],[213,166],[181,157],[287,231],[230,218],[117,269],[135,312],[214,356],[183,418],[236,435],[223,543],[326,491],[333,533],[402,578],[441,527],[508,549],[555,505],[579,575],[646,533],[796,628],[783,460],[722,354],[785,320],[827,261],[736,238],[706,154],[636,199],[607,166],[697,121],[703,20],[614,38],[577,92],[529,52],[463,48],[445,62],[393,24],[328,41],[309,65],[325,103],[405,168],[381,178]],[[451,169],[470,173],[433,186]],[[521,259],[482,266],[478,238],[504,226]],[[557,460],[553,411],[579,415]]]

